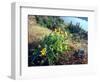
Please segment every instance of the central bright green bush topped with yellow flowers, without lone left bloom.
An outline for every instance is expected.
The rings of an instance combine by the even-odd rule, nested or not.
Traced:
[[[56,64],[59,55],[69,50],[67,37],[67,32],[63,32],[59,28],[55,29],[49,36],[45,36],[42,40],[41,47],[46,49],[49,65]]]

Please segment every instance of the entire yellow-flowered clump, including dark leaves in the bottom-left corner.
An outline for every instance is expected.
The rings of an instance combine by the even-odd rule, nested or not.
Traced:
[[[45,36],[37,47],[33,48],[30,55],[31,66],[55,65],[59,62],[59,57],[69,50],[71,50],[69,33],[60,28],[55,29],[48,36]]]

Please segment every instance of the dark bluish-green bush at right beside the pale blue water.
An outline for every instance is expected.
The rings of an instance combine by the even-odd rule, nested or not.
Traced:
[[[65,27],[65,30],[70,32],[73,35],[74,40],[87,40],[88,39],[88,32],[85,31],[80,27],[80,23],[77,23],[76,25],[73,25],[72,22]]]

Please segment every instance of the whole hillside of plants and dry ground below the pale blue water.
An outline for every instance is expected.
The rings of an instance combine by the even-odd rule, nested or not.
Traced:
[[[32,22],[36,24],[30,26],[29,22],[28,27],[29,66],[87,63],[88,34],[80,24],[73,25],[71,22],[66,25],[59,16],[33,16],[33,18],[35,21]]]

